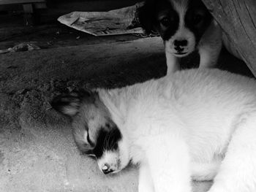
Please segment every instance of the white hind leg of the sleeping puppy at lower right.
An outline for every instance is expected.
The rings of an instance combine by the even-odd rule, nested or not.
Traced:
[[[256,191],[256,114],[243,119],[208,192]]]

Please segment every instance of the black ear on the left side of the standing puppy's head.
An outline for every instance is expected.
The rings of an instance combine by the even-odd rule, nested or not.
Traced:
[[[152,14],[151,5],[149,5],[147,2],[142,7],[138,8],[140,25],[142,28],[144,28],[146,34],[151,34],[151,31],[155,31]]]

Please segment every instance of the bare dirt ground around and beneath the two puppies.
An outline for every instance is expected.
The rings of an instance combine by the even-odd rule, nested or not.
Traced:
[[[0,55],[0,191],[136,191],[136,168],[101,174],[78,152],[69,119],[49,101],[79,88],[116,88],[165,75],[162,40],[92,37],[59,24],[1,28],[0,49],[20,42],[41,49]],[[192,55],[184,66],[197,61]],[[252,76],[225,50],[219,67]],[[195,191],[209,185],[195,183]]]

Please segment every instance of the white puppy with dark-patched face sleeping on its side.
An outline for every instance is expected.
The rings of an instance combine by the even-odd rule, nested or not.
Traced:
[[[139,192],[191,192],[191,178],[214,178],[209,192],[255,192],[255,101],[253,79],[189,69],[51,104],[102,172],[140,164]]]

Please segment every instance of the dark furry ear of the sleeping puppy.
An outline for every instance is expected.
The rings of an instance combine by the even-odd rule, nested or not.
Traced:
[[[64,115],[74,116],[78,113],[81,104],[81,97],[78,93],[70,93],[69,95],[56,96],[50,105],[54,110]]]

